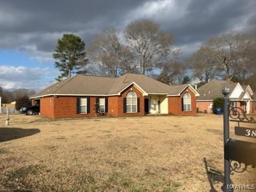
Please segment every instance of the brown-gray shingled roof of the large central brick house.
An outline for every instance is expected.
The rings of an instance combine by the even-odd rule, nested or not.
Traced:
[[[32,95],[31,98],[41,97],[47,94],[117,94],[132,82],[136,83],[147,93],[179,94],[188,86],[188,84],[171,86],[145,75],[130,73],[121,77],[76,75],[65,81],[57,82],[46,87],[44,90]]]

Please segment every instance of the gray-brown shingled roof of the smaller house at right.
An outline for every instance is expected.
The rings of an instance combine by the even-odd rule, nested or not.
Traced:
[[[196,90],[200,94],[196,100],[214,100],[216,98],[223,97],[222,88],[224,86],[229,88],[229,94],[231,94],[236,85],[237,83],[233,83],[231,81],[212,80]]]

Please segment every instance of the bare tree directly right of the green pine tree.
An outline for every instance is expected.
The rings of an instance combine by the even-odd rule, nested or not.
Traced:
[[[132,55],[119,42],[117,30],[114,28],[105,29],[101,34],[95,35],[88,52],[91,63],[101,75],[117,77],[123,70],[129,70],[126,65]]]

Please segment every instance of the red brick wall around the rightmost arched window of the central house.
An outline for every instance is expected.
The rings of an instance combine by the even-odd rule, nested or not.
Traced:
[[[182,111],[181,108],[181,99],[186,91],[191,95],[191,111]],[[168,97],[168,110],[170,115],[196,115],[196,96],[193,91],[188,87],[181,93],[180,97]]]

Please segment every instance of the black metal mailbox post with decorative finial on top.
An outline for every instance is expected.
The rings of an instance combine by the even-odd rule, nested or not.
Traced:
[[[228,87],[223,87],[222,94],[224,95],[223,101],[223,132],[224,132],[224,151],[227,141],[229,140],[229,100],[228,100]],[[224,152],[225,153],[225,152]],[[225,155],[225,154],[224,154]],[[233,191],[228,188],[230,185],[230,161],[229,159],[224,158],[224,183],[222,186],[222,190],[224,192]]]

